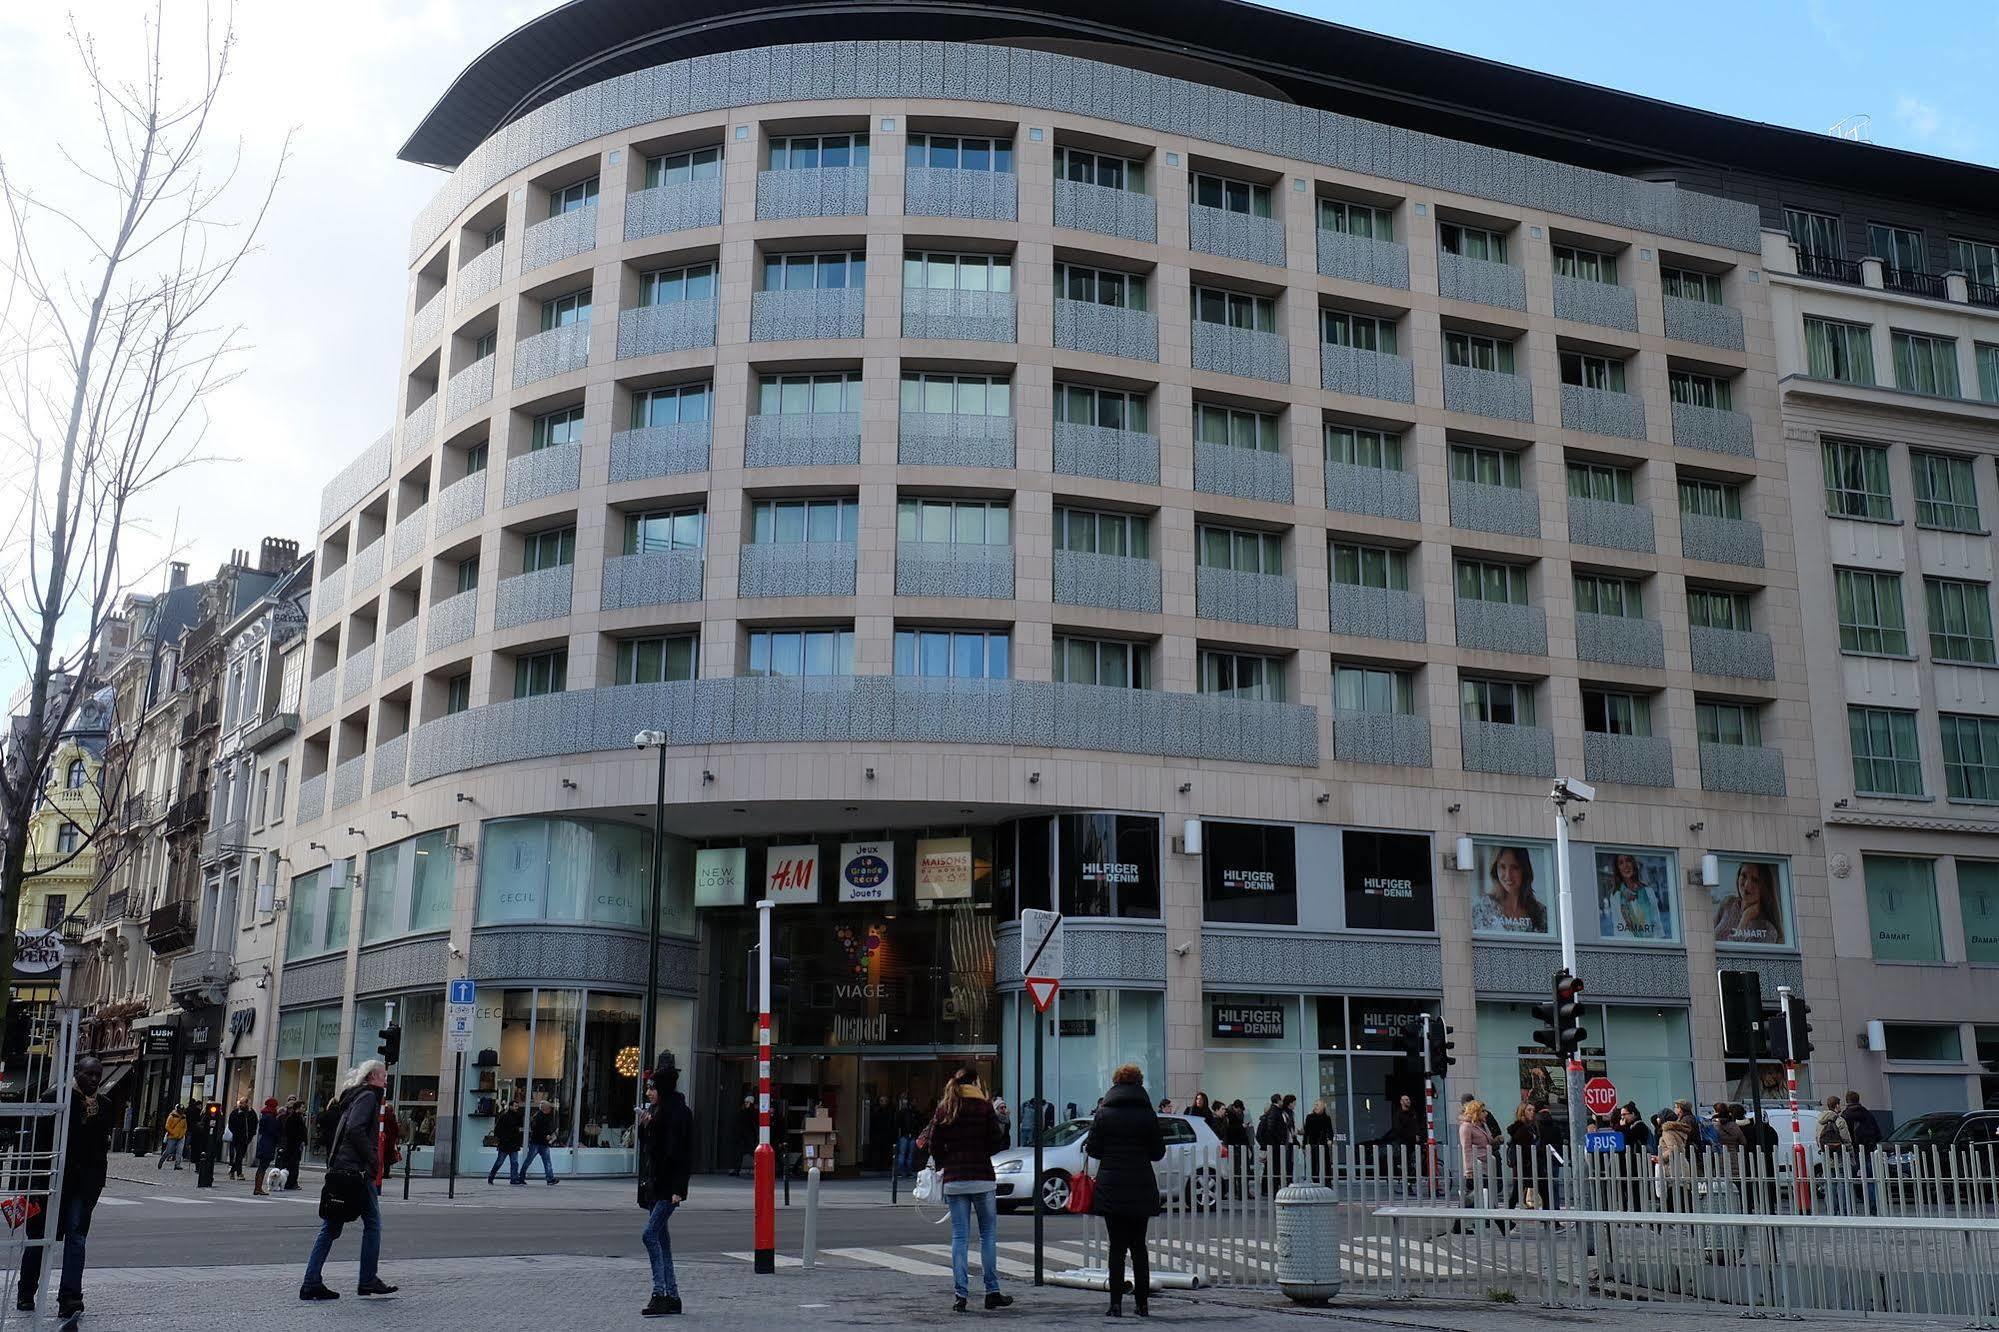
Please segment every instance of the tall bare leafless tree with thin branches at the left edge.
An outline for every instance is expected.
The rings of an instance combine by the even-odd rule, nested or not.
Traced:
[[[126,568],[122,540],[148,492],[198,458],[206,402],[240,372],[240,328],[222,322],[218,296],[256,244],[290,150],[286,136],[270,178],[238,184],[242,146],[214,142],[232,16],[208,10],[170,42],[166,8],[156,0],[148,14],[132,72],[108,68],[70,18],[92,114],[78,122],[88,142],[56,144],[62,178],[42,184],[60,188],[26,180],[24,144],[6,142],[50,126],[0,130],[0,652],[12,654],[0,678],[26,682],[0,764],[0,1004],[28,820],[94,688],[100,630],[144,574]],[[196,46],[190,68],[170,68]],[[106,782],[86,844],[120,788]]]

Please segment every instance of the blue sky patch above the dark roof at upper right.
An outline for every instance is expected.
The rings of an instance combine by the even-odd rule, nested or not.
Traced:
[[[1877,144],[1999,166],[1999,130],[1989,118],[1999,54],[1993,0],[1553,0],[1533,10],[1489,0],[1275,2],[1313,18],[1799,130],[1867,114]],[[1895,22],[1897,14],[1909,22]]]

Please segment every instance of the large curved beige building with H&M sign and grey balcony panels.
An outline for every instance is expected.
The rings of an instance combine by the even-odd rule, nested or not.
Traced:
[[[1511,1104],[1563,928],[1619,1090],[1729,1094],[1717,964],[1837,1000],[1761,218],[1675,180],[1785,134],[1223,0],[508,36],[322,500],[272,1086],[394,1002],[420,1132],[630,1168],[664,730],[716,1160],[766,894],[842,1164],[950,1064],[1025,1100],[1025,906],[1057,1110],[1135,1058],[1375,1138],[1421,1012]]]

